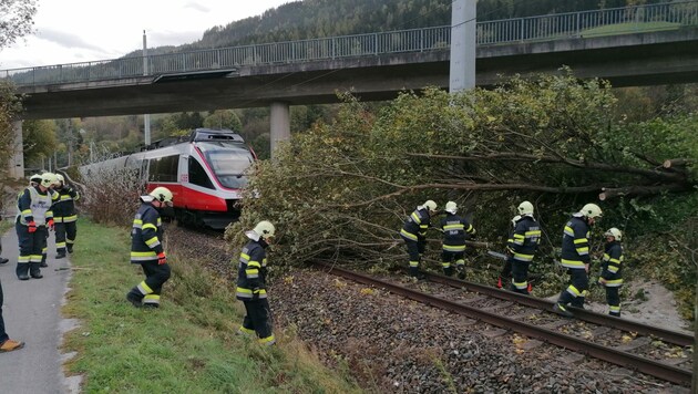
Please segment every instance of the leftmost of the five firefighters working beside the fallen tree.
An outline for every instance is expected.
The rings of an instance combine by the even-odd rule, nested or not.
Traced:
[[[431,217],[437,214],[437,203],[427,200],[407,218],[400,236],[404,239],[410,255],[410,277],[420,278],[419,263],[427,249],[427,230],[431,224]]]

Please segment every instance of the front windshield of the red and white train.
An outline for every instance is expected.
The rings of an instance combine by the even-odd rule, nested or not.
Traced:
[[[199,143],[214,175],[223,187],[240,189],[247,186],[245,170],[253,163],[252,153],[243,145],[228,142]]]

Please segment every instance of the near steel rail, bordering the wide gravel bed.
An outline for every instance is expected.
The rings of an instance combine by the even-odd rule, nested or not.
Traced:
[[[663,381],[688,386],[691,384],[692,374],[691,371],[688,370],[644,359],[624,351],[605,348],[593,342],[587,342],[582,339],[565,335],[556,331],[532,325],[519,320],[502,317],[473,307],[468,307],[462,303],[440,299],[438,297],[408,289],[399,284],[374,279],[361,273],[352,272],[336,266],[320,262],[318,262],[317,266],[327,269],[328,273],[333,273],[359,283],[383,288],[392,293],[406,297],[408,299],[454,313],[463,314],[483,321],[485,323],[500,326],[502,329],[519,332],[527,336],[536,338],[542,341],[593,356],[595,359],[604,360],[616,365],[622,365],[624,367],[639,371]]]

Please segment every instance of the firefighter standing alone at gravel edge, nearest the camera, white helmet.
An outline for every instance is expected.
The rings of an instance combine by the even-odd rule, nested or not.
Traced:
[[[276,229],[263,220],[254,229],[245,231],[249,241],[240,252],[237,268],[236,297],[245,304],[245,318],[239,332],[257,334],[260,344],[276,342],[273,331],[271,311],[267,301],[267,251]]]

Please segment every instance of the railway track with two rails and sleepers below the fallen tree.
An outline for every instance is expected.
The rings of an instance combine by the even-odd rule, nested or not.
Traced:
[[[374,277],[319,265],[325,271],[383,288],[408,299],[459,313],[657,379],[690,386],[692,336],[633,321],[574,309],[575,318],[551,312],[553,302],[437,274],[427,281]],[[664,354],[675,354],[665,359]]]

